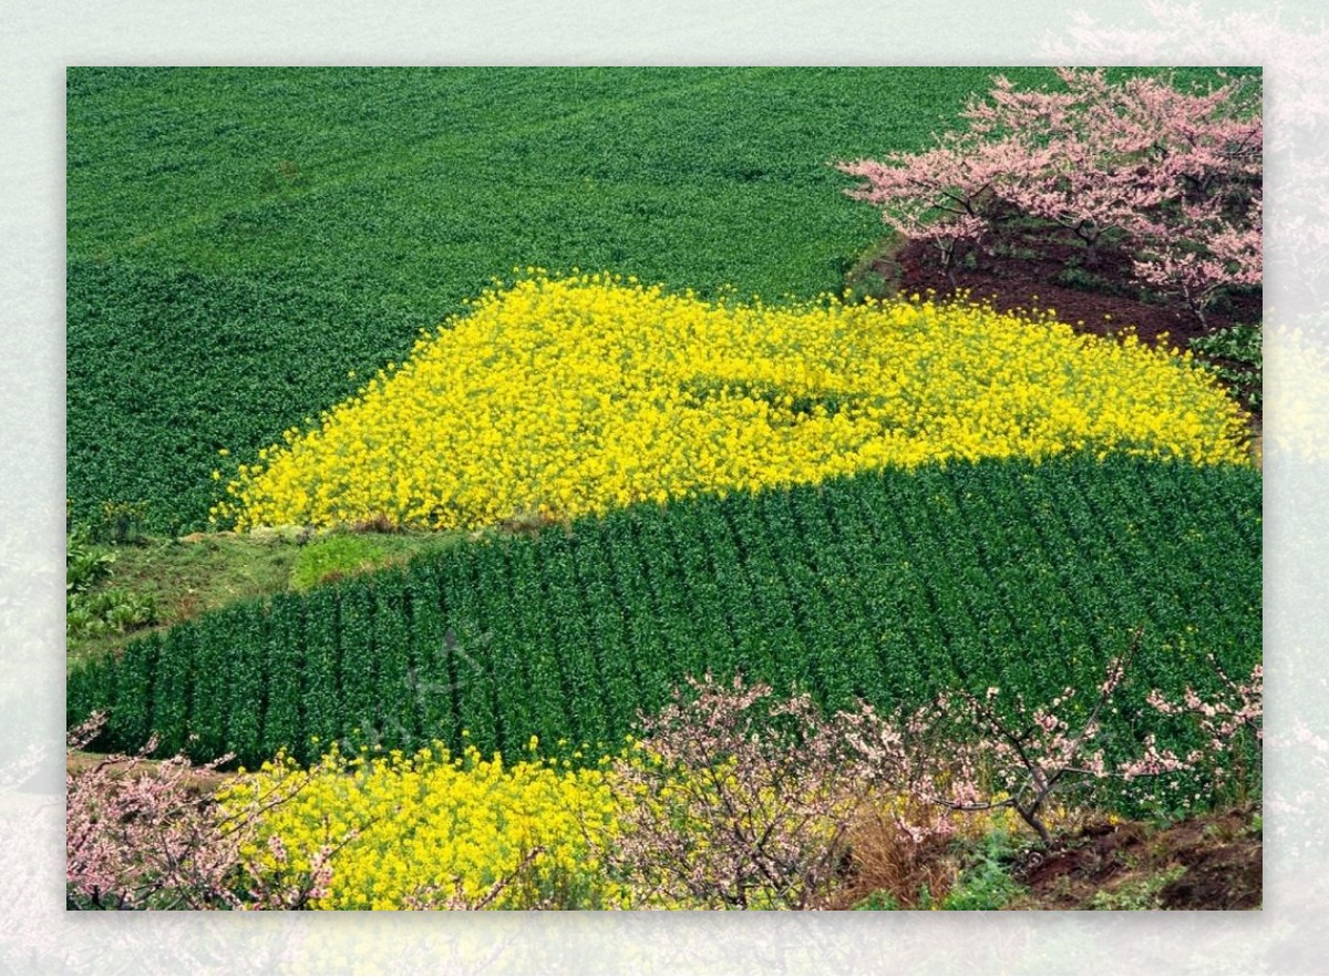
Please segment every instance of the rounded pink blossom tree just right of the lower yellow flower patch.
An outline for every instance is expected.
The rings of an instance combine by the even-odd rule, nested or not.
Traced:
[[[614,764],[619,833],[603,852],[649,905],[788,908],[835,880],[864,786],[808,695],[687,679]]]

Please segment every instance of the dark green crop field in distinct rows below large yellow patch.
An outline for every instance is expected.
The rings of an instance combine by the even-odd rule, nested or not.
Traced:
[[[1074,456],[639,505],[149,635],[70,673],[69,722],[109,708],[102,748],[155,732],[247,764],[335,740],[513,754],[615,742],[706,670],[829,708],[1051,697],[1138,626],[1142,675],[1176,691],[1201,650],[1259,661],[1260,498],[1244,467]],[[1108,724],[1138,742],[1136,719]]]

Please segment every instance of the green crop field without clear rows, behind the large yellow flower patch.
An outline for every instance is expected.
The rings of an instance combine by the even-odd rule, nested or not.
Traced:
[[[517,266],[839,291],[880,222],[828,162],[924,146],[991,73],[70,69],[73,512],[202,528],[218,449],[251,461]]]

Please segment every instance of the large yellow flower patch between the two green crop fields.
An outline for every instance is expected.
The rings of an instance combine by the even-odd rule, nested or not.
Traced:
[[[1187,356],[966,303],[708,303],[538,270],[241,467],[238,528],[571,517],[937,459],[1248,460]]]

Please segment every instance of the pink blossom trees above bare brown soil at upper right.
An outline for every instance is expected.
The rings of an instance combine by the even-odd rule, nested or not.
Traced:
[[[1058,76],[1065,90],[1019,92],[997,76],[961,113],[965,132],[921,154],[837,163],[864,179],[847,193],[932,242],[952,284],[961,250],[991,253],[1014,218],[1033,226],[1026,241],[1078,241],[1088,267],[1106,246],[1143,250],[1136,278],[1201,322],[1221,290],[1259,284],[1257,92],[1243,80],[1185,93],[1150,77],[1108,82],[1103,69]]]

